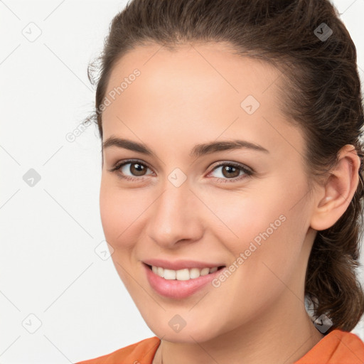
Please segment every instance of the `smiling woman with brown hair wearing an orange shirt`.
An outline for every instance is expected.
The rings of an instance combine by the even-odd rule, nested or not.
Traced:
[[[329,1],[132,0],[92,118],[105,237],[156,336],[82,363],[364,363],[363,104]]]

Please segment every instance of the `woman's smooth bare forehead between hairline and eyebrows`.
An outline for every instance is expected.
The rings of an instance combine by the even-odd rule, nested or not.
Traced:
[[[243,134],[268,148],[285,143],[291,149],[291,139],[303,149],[299,130],[277,106],[281,72],[232,52],[217,43],[173,51],[151,44],[124,55],[107,85],[105,96],[114,95],[114,100],[109,97],[102,115],[104,140],[115,134],[152,140],[160,132],[178,143],[187,133],[189,139],[206,141]]]

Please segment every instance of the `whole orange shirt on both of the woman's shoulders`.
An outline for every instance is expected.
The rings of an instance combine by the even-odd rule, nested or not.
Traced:
[[[146,338],[76,364],[151,364],[160,342],[156,336]],[[353,333],[333,330],[294,364],[364,364],[364,343]]]

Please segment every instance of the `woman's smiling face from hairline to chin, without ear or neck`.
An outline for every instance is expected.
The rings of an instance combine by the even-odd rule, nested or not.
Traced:
[[[304,139],[279,112],[281,73],[227,49],[136,48],[105,94],[102,226],[125,287],[167,341],[259,331],[304,309],[314,240]]]

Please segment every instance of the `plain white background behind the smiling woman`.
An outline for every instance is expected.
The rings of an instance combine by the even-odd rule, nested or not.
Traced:
[[[364,0],[333,3],[364,80]],[[125,4],[0,0],[1,364],[75,363],[154,336],[111,258],[95,253],[105,238],[97,129],[65,138],[92,109],[87,64]],[[363,325],[354,332],[364,339]]]

